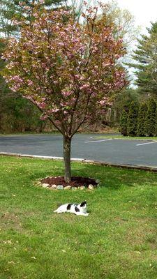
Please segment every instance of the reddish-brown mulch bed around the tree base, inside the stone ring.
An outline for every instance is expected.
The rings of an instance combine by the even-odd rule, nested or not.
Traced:
[[[80,186],[88,187],[89,184],[92,184],[94,187],[98,186],[98,183],[96,182],[95,179],[90,179],[88,177],[82,177],[82,176],[73,176],[69,183],[66,183],[64,181],[63,176],[47,177],[45,179],[41,179],[41,182],[50,184],[51,186],[53,184],[63,185],[63,187],[66,187],[69,185],[72,187],[80,187]]]

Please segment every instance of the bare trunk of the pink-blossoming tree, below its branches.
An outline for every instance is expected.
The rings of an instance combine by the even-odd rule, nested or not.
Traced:
[[[65,166],[64,180],[70,182],[71,180],[71,167],[70,167],[70,149],[71,149],[71,138],[63,137],[63,161]]]

